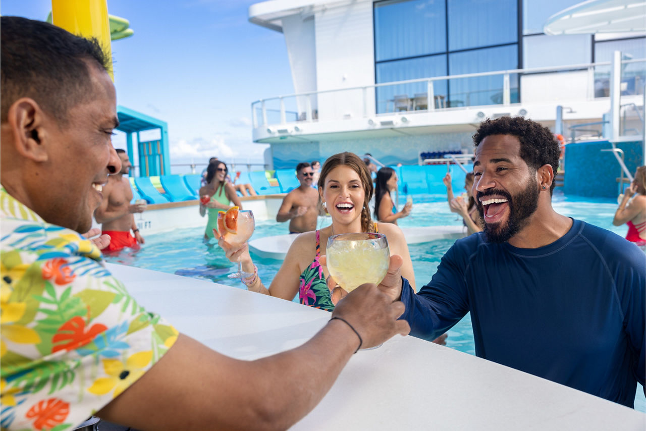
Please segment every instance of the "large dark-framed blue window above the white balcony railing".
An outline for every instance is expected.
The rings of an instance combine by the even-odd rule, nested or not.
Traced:
[[[517,0],[375,3],[375,79],[387,83],[519,67]],[[512,79],[517,101],[517,76]],[[439,79],[435,107],[502,103],[503,76]],[[426,109],[428,83],[378,87],[377,112]]]

